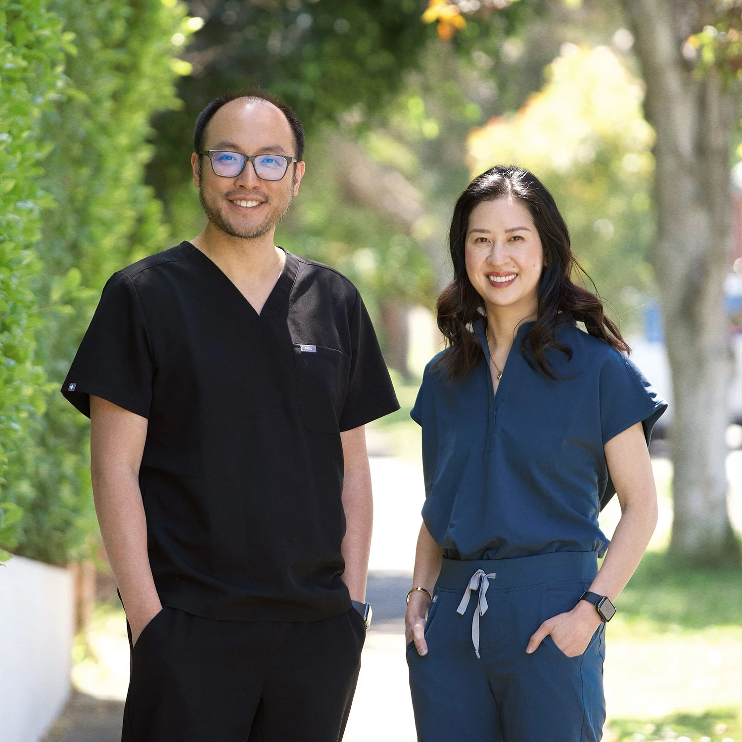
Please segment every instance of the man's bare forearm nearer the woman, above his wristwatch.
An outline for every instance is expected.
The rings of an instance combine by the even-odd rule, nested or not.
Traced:
[[[345,473],[343,508],[346,522],[342,545],[345,559],[343,580],[348,586],[351,599],[364,602],[373,526],[371,473],[368,460],[365,467],[361,465]]]

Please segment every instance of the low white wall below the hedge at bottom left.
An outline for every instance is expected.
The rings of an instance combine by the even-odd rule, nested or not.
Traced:
[[[70,695],[73,582],[59,567],[0,566],[0,742],[38,742]]]

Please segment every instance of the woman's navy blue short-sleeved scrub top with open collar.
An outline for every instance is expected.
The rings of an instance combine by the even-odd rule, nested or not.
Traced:
[[[413,410],[422,427],[430,535],[455,559],[508,559],[554,551],[597,551],[608,539],[598,513],[614,495],[603,446],[642,421],[647,444],[667,409],[625,355],[559,315],[546,357],[556,381],[533,370],[513,341],[493,392],[485,320],[473,329],[486,358],[464,379],[448,381],[427,365]],[[445,352],[445,351],[444,351]]]

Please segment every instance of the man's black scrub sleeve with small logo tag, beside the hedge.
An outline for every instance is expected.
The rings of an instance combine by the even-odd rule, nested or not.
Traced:
[[[114,273],[103,288],[62,394],[90,417],[90,395],[149,417],[153,362],[145,317],[134,283]]]

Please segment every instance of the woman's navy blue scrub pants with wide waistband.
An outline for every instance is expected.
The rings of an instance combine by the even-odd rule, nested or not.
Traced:
[[[595,552],[443,559],[425,626],[427,654],[407,646],[418,741],[600,741],[605,624],[577,657],[567,657],[551,636],[525,652],[542,622],[571,611],[596,574]]]

